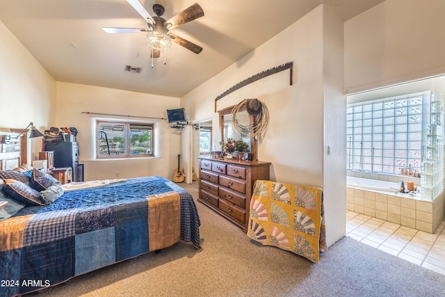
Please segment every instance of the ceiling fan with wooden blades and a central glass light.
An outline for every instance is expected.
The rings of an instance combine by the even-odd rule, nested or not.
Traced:
[[[144,6],[138,0],[127,0],[131,6],[141,15],[145,21],[147,21],[147,28],[110,28],[103,27],[106,33],[138,33],[147,32],[145,40],[152,47],[152,58],[159,58],[161,56],[161,50],[168,49],[171,45],[171,41],[176,42],[178,45],[185,47],[186,49],[193,51],[195,54],[200,54],[202,47],[195,45],[193,42],[185,40],[184,38],[170,33],[170,30],[191,22],[194,19],[204,16],[204,10],[198,3],[184,9],[181,13],[178,13],[174,17],[165,20],[162,15],[164,8],[161,4],[154,4],[153,11],[156,16],[151,16]]]

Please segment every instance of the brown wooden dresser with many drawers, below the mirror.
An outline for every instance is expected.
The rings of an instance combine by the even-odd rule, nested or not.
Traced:
[[[200,198],[221,216],[248,230],[250,198],[257,179],[269,179],[269,162],[200,157]]]

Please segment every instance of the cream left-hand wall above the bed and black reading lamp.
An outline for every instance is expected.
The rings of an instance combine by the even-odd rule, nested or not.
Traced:
[[[33,122],[42,133],[56,110],[56,81],[0,22],[0,129],[24,129]],[[34,138],[37,159],[42,138]]]

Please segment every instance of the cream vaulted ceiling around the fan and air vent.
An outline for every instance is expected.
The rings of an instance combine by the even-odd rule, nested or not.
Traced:
[[[204,17],[172,33],[204,49],[172,43],[166,65],[161,56],[154,68],[145,33],[102,30],[147,26],[126,0],[0,0],[0,21],[56,81],[182,97],[321,3],[346,21],[383,0],[140,0],[152,16],[153,4],[163,5],[165,19],[196,1]]]

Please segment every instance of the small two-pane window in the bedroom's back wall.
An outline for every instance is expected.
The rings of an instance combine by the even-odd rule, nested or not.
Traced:
[[[153,129],[153,124],[97,121],[97,158],[153,156]]]

